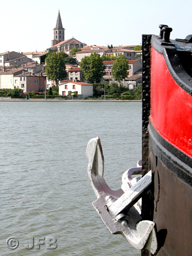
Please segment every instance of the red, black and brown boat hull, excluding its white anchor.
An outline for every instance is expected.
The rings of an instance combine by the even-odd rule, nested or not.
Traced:
[[[190,36],[173,41],[166,35],[143,35],[142,40],[142,173],[152,170],[151,189],[142,197],[142,218],[156,223],[156,255],[188,256],[192,253],[192,43]],[[151,254],[144,249],[144,255]]]

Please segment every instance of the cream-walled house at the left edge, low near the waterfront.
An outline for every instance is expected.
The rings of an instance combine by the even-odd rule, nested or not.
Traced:
[[[23,71],[26,72],[23,68],[11,68],[11,69],[4,68],[4,70],[0,72],[0,88],[1,89],[17,88],[16,86],[14,87],[13,78],[15,75],[21,74]]]

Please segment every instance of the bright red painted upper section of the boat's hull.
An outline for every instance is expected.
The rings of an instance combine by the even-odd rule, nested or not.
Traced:
[[[192,157],[192,97],[172,78],[151,46],[150,121],[169,143]]]

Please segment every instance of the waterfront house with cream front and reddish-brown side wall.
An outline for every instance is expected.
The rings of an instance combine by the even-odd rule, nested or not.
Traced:
[[[23,92],[35,92],[45,90],[46,77],[42,76],[42,73],[31,74],[30,72],[22,72],[21,74],[14,75],[13,88],[20,88]]]

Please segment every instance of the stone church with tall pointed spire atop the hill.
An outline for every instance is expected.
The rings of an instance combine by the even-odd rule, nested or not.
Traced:
[[[60,17],[60,12],[58,11],[58,16],[56,20],[56,26],[53,29],[54,31],[54,39],[51,40],[51,48],[56,51],[69,51],[72,48],[82,48],[84,43],[78,41],[75,38],[64,39],[64,28],[62,27],[62,21]]]

